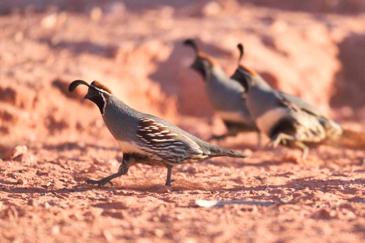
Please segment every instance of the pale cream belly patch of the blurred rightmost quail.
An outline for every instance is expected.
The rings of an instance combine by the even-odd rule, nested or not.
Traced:
[[[260,131],[264,132],[266,135],[269,135],[271,129],[280,119],[287,116],[288,112],[289,111],[286,108],[281,107],[269,110],[256,118],[256,124]]]

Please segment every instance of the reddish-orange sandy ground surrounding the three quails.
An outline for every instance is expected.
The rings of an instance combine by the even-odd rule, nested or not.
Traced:
[[[220,4],[0,16],[0,242],[364,241],[363,149],[322,145],[300,161],[242,134],[217,144],[248,158],[178,166],[171,188],[165,168],[143,165],[113,187],[84,184],[115,173],[122,151],[86,89],[67,92],[74,79],[97,79],[203,139],[224,132],[188,68],[181,41],[192,36],[231,72],[244,38],[245,62],[271,84],[365,131],[365,16]],[[17,145],[27,150],[12,157]],[[196,199],[292,203],[205,209]]]

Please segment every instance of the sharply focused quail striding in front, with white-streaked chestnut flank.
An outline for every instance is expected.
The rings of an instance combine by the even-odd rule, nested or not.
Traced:
[[[141,163],[166,167],[165,185],[170,186],[173,166],[218,156],[247,157],[200,140],[164,119],[134,110],[100,82],[89,85],[83,80],[75,80],[68,90],[72,92],[79,85],[89,87],[85,99],[98,106],[106,127],[123,151],[123,161],[116,174],[101,180],[87,180],[88,184],[113,185],[112,179],[126,174],[130,166]]]

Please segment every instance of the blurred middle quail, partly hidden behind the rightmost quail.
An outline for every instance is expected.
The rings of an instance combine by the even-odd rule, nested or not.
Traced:
[[[213,136],[211,139],[222,139],[235,136],[239,132],[258,132],[245,104],[245,90],[232,80],[212,57],[199,51],[193,39],[187,39],[184,45],[195,51],[195,60],[191,67],[197,71],[206,83],[206,92],[215,112],[223,119],[229,133]]]

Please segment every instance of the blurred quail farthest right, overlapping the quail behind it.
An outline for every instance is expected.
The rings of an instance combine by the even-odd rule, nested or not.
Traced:
[[[343,133],[342,127],[326,117],[300,97],[272,89],[254,70],[240,64],[231,78],[246,90],[246,104],[260,131],[270,138],[270,145],[294,146],[302,149],[302,159],[309,152],[309,145],[336,140]]]

